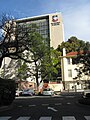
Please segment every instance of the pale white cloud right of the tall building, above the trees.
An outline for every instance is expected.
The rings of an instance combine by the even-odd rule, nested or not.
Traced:
[[[76,36],[79,39],[90,41],[90,7],[79,6],[71,13],[64,14],[65,38]]]

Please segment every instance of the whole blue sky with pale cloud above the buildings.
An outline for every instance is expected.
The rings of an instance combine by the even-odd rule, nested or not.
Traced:
[[[90,42],[90,0],[0,0],[0,16],[15,19],[60,12],[65,41],[75,36]]]

